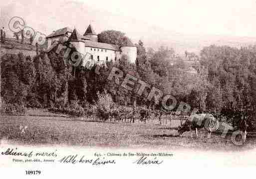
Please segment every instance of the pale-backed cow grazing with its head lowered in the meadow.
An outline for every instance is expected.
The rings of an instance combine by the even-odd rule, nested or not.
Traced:
[[[195,130],[196,136],[198,137],[198,129],[205,128],[208,133],[208,138],[210,138],[215,121],[216,119],[211,114],[195,114],[190,116],[182,126],[178,127],[178,133],[181,135],[186,131]]]

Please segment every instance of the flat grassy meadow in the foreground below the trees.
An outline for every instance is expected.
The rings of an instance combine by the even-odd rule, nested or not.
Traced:
[[[176,132],[169,129],[180,124],[159,125],[157,120],[148,124],[110,123],[92,121],[87,118],[0,116],[0,138],[22,145],[76,145],[104,148],[153,148],[153,149],[197,149],[197,150],[248,150],[256,147],[256,138],[248,136],[244,146],[235,146],[231,137],[222,138],[213,134],[206,139],[200,130],[200,138],[191,138],[191,133],[173,137]],[[24,133],[20,125],[27,126]]]

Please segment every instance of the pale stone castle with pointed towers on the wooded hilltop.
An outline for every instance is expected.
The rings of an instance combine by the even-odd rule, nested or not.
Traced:
[[[47,46],[50,46],[54,40],[60,40],[61,38],[69,40],[78,52],[84,55],[87,52],[92,54],[92,59],[94,60],[119,60],[124,54],[127,55],[128,60],[135,63],[137,58],[137,47],[133,44],[117,46],[98,42],[98,36],[91,24],[85,30],[83,35],[78,33],[76,28],[71,30],[68,27],[64,27],[53,31],[46,37]]]

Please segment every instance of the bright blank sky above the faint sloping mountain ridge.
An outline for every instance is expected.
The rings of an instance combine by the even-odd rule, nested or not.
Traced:
[[[87,4],[166,30],[256,36],[256,0],[90,0]]]

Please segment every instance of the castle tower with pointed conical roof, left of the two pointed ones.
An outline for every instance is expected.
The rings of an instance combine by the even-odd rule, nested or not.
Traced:
[[[72,45],[75,46],[79,53],[85,55],[85,42],[82,40],[81,35],[78,33],[76,28],[74,28],[68,40]]]

